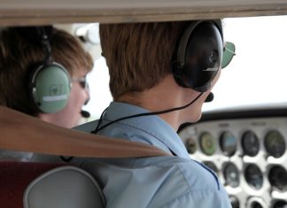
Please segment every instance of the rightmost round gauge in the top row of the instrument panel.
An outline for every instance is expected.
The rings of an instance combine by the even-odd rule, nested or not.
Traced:
[[[278,131],[269,131],[265,136],[264,145],[268,154],[274,158],[283,156],[286,149],[284,137]]]

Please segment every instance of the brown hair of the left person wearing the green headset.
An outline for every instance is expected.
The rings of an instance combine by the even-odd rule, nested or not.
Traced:
[[[64,30],[54,28],[50,38],[52,61],[63,65],[71,77],[78,70],[89,72],[93,60],[85,51],[81,42]],[[0,35],[0,104],[19,112],[37,116],[38,110],[31,104],[29,95],[29,77],[35,66],[43,62],[43,46],[35,44],[17,27],[8,27]]]

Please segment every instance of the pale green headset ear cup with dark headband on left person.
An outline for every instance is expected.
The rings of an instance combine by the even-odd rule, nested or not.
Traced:
[[[28,90],[38,112],[55,113],[65,108],[71,92],[71,77],[63,65],[51,61],[50,38],[52,27],[24,27],[22,34],[35,35],[41,43],[45,58],[36,64],[29,75]]]

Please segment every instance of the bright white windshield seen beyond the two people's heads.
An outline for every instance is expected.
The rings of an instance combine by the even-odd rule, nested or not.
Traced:
[[[203,111],[286,104],[287,16],[224,19],[223,29],[237,55],[221,71],[213,102]],[[105,58],[97,57],[88,80],[91,96],[85,109],[98,118],[112,101]]]

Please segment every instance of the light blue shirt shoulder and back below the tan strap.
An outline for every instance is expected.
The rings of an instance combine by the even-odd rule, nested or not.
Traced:
[[[190,159],[92,159],[84,169],[101,181],[107,201],[112,200],[110,203],[117,207],[229,207],[228,196],[223,188],[219,189],[217,177]],[[119,192],[114,193],[115,189]],[[135,191],[141,195],[134,196]],[[125,196],[142,203],[132,204]]]

